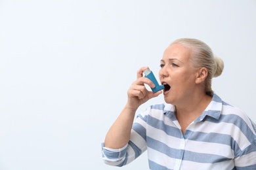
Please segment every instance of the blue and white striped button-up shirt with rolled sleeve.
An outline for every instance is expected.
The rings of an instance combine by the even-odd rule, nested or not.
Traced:
[[[102,143],[102,158],[123,166],[147,150],[150,169],[256,169],[255,127],[216,94],[184,135],[173,105],[152,105],[137,116],[126,146],[111,149]]]

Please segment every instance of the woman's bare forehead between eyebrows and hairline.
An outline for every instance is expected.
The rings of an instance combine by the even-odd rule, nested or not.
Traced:
[[[191,50],[184,47],[182,44],[171,44],[163,52],[163,60],[165,59],[179,59],[181,61],[188,61],[190,59]]]

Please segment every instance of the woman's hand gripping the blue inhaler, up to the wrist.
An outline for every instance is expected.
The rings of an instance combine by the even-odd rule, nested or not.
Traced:
[[[126,107],[138,109],[140,105],[149,99],[161,94],[161,90],[153,93],[146,89],[144,84],[148,84],[151,88],[155,87],[154,83],[149,78],[143,76],[143,71],[146,69],[148,69],[148,67],[141,67],[139,71],[137,71],[137,80],[131,84],[127,92],[128,101]]]

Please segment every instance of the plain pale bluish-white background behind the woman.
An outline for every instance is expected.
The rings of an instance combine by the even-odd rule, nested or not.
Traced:
[[[183,37],[223,58],[213,90],[256,122],[255,30],[255,0],[0,0],[0,169],[119,169],[104,136],[137,70],[158,76]],[[146,153],[121,169],[148,169]]]

